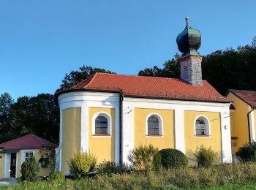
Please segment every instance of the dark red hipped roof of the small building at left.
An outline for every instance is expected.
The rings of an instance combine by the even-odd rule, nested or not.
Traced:
[[[24,148],[42,148],[42,147],[53,147],[56,148],[57,145],[53,144],[48,140],[45,140],[41,137],[38,137],[35,134],[27,134],[23,137],[19,137],[8,142],[0,144],[0,148],[15,148],[15,149],[24,149]]]

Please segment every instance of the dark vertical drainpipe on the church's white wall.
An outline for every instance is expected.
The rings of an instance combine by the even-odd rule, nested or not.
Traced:
[[[124,95],[120,92],[119,99],[119,164],[123,162],[123,100]]]

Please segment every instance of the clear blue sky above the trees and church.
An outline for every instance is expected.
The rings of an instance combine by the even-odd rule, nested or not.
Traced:
[[[119,74],[173,58],[189,25],[202,33],[200,53],[251,44],[255,0],[0,0],[0,94],[54,93],[83,64]]]

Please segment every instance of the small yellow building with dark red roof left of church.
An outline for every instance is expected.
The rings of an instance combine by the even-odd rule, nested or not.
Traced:
[[[18,178],[21,176],[21,164],[31,156],[41,161],[39,151],[43,148],[57,148],[53,142],[27,134],[0,144],[0,178]],[[42,163],[41,163],[42,166]],[[44,164],[39,172],[40,176],[50,173],[50,165]]]

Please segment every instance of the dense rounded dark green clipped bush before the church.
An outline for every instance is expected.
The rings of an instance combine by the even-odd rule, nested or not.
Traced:
[[[185,168],[188,165],[187,157],[177,149],[166,148],[158,151],[154,156],[154,167]]]

